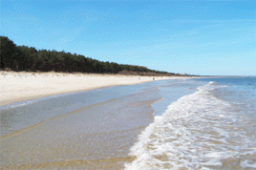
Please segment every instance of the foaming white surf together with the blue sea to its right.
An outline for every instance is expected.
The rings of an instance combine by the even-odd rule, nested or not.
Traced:
[[[157,107],[154,122],[130,148],[136,159],[125,169],[256,169],[256,77],[185,84],[196,85],[161,114]]]

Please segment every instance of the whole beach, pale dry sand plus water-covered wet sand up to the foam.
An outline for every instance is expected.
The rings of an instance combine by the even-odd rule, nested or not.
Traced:
[[[180,77],[154,78],[2,72],[1,168],[123,169],[163,99],[158,80]]]

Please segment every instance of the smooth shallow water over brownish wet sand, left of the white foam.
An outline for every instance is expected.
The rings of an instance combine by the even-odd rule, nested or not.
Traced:
[[[96,90],[98,93],[84,92],[89,95],[82,97],[78,93],[35,102],[34,106],[0,110],[1,121],[13,121],[8,121],[6,129],[20,124],[20,130],[10,130],[1,137],[1,169],[122,169],[124,162],[135,159],[129,157],[129,149],[153,121],[152,104],[161,99],[158,88],[147,84],[140,87],[117,86]],[[53,115],[58,105],[73,106],[66,105],[75,98],[96,102]],[[46,111],[41,114],[53,117],[44,117],[43,121],[23,128],[22,123],[40,117],[33,113],[43,109]]]

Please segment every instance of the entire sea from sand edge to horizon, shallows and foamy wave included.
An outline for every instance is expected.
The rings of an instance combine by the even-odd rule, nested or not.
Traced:
[[[114,86],[0,114],[3,169],[256,169],[255,76]]]

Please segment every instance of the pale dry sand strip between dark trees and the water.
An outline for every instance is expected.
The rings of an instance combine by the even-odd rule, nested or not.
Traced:
[[[156,76],[155,80],[183,78]],[[44,96],[153,81],[152,76],[0,72],[0,106]]]

